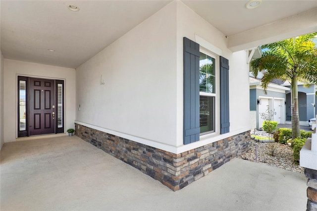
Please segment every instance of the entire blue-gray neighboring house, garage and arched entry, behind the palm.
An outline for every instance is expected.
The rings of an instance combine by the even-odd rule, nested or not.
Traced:
[[[263,119],[261,113],[269,106],[274,109],[274,121],[279,124],[291,124],[291,85],[288,81],[274,79],[269,83],[267,93],[261,86],[262,73],[258,78],[251,77],[250,73],[250,122],[252,128],[260,129]],[[300,125],[308,126],[308,120],[314,118],[317,113],[317,85],[298,82],[298,111]]]

